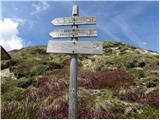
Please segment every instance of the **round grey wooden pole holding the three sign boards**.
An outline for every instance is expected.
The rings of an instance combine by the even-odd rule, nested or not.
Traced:
[[[72,7],[72,17],[73,19],[77,17],[79,14],[79,9],[77,5],[73,5]],[[72,30],[76,30],[78,25],[73,24]],[[77,41],[78,38],[72,37],[72,41]],[[69,84],[69,119],[77,118],[77,54],[71,55],[70,62],[70,84]]]

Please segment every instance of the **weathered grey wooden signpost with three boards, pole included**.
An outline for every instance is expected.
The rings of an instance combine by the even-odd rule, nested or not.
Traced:
[[[55,18],[52,23],[58,25],[72,25],[72,29],[55,30],[50,33],[53,38],[71,38],[71,41],[49,41],[47,53],[71,54],[70,82],[69,82],[69,119],[77,118],[77,69],[78,54],[102,54],[103,43],[100,41],[78,41],[78,37],[96,37],[95,28],[78,28],[78,25],[96,24],[95,17],[79,17],[77,5],[72,7],[72,17]]]

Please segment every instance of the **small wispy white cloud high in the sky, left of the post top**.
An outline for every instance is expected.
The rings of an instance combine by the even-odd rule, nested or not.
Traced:
[[[34,15],[41,11],[47,10],[50,7],[50,5],[45,1],[41,1],[41,2],[38,2],[37,4],[33,3],[32,7],[34,8],[34,11],[31,14]]]

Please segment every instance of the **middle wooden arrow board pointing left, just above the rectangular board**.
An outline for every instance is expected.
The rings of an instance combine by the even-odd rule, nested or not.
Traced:
[[[80,28],[76,30],[55,30],[50,33],[53,38],[67,38],[67,37],[96,37],[95,28]]]

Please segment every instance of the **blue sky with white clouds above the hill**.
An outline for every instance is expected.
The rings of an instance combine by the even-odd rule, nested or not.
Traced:
[[[79,40],[120,41],[147,50],[159,50],[158,1],[0,1],[0,45],[7,51],[47,45],[58,29],[51,21],[71,16],[72,5],[79,16],[95,16],[97,37]],[[59,38],[58,40],[69,40]]]

